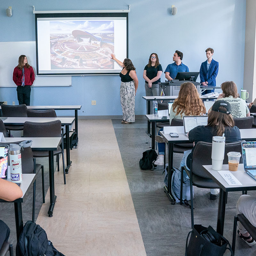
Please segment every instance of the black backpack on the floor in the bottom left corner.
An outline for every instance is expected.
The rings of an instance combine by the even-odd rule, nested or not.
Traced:
[[[27,221],[16,247],[17,256],[65,256],[48,241],[46,232],[33,221]]]

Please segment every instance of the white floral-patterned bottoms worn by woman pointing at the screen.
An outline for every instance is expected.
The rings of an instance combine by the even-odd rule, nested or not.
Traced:
[[[135,122],[135,86],[132,82],[121,82],[120,101],[123,111],[123,120]]]

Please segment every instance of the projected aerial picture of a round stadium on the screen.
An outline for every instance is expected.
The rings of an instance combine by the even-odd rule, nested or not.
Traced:
[[[50,21],[51,69],[113,69],[113,20]]]

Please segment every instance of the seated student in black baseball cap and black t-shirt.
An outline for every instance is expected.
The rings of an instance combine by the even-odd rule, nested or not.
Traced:
[[[222,136],[225,133],[226,142],[236,142],[241,139],[240,131],[235,126],[231,113],[231,106],[228,101],[217,100],[212,105],[212,111],[208,114],[207,125],[199,125],[188,132],[188,139],[194,143],[192,150],[184,152],[184,156],[180,163],[181,166],[186,165],[190,169],[190,159],[192,159],[195,145],[198,141],[212,142],[213,136]],[[203,152],[202,152],[203,154]],[[186,174],[185,174],[186,175]],[[217,199],[220,189],[212,188],[210,199]]]

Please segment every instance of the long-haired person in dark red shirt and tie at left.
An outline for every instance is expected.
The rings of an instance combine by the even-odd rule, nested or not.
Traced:
[[[19,64],[13,70],[13,82],[17,85],[17,97],[19,104],[30,105],[30,86],[35,80],[34,69],[28,65],[28,59],[25,55],[20,55]]]

